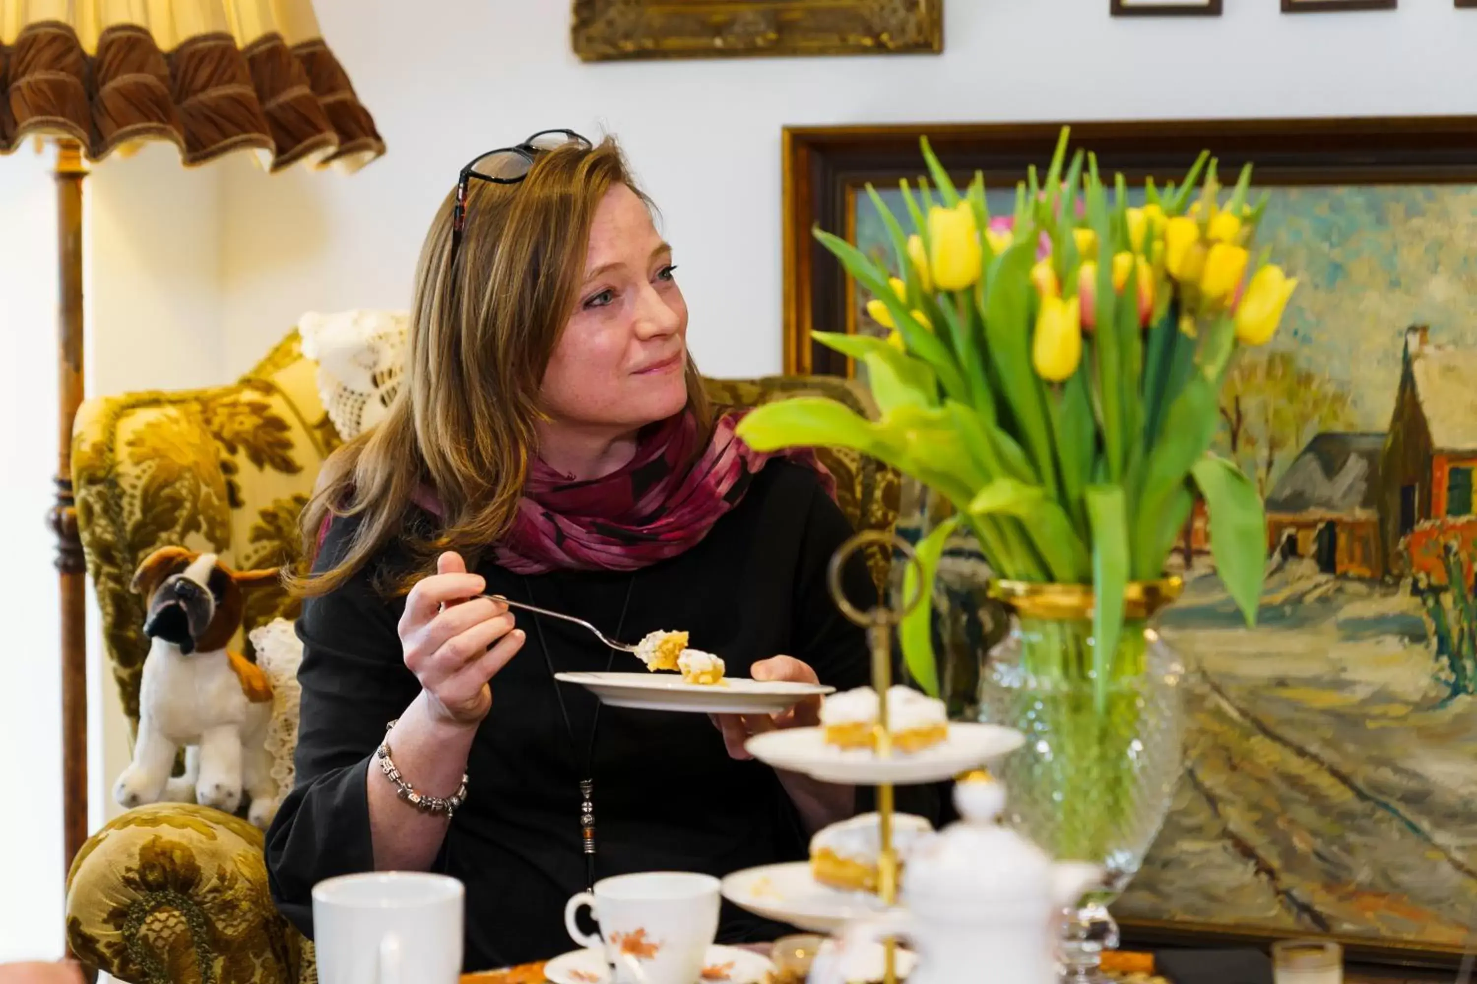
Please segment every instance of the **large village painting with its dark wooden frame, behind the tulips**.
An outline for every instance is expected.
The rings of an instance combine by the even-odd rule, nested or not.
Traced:
[[[866,184],[905,215],[925,134],[1004,212],[1059,124],[786,130],[789,372],[851,372],[812,329],[880,330],[811,230],[895,267]],[[1115,913],[1145,943],[1455,960],[1477,913],[1477,118],[1089,122],[1072,145],[1140,186],[1202,149],[1232,180],[1252,161],[1258,243],[1300,277],[1220,406],[1220,451],[1267,503],[1260,618],[1202,577],[1195,527],[1161,626],[1193,667],[1186,770]]]

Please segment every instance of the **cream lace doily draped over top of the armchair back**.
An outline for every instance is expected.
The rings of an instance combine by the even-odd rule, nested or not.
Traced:
[[[318,395],[346,441],[384,419],[400,391],[409,314],[309,311],[297,322],[303,354],[318,363]]]

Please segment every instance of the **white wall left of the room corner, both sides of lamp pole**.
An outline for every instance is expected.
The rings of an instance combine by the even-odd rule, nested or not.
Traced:
[[[6,620],[0,748],[0,962],[62,953],[62,761],[53,537],[56,195],[52,153],[0,158],[0,565]],[[171,148],[100,165],[84,184],[87,392],[223,378],[219,170],[183,171]],[[90,822],[117,816],[109,786],[128,730],[89,612]]]

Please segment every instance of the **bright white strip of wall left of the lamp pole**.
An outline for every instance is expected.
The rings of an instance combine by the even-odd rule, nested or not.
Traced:
[[[52,507],[56,428],[56,195],[49,158],[0,158],[0,962],[62,946],[62,671]]]

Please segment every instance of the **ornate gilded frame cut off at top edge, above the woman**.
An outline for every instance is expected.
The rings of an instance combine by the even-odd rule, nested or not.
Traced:
[[[575,0],[585,62],[944,50],[944,0]]]

